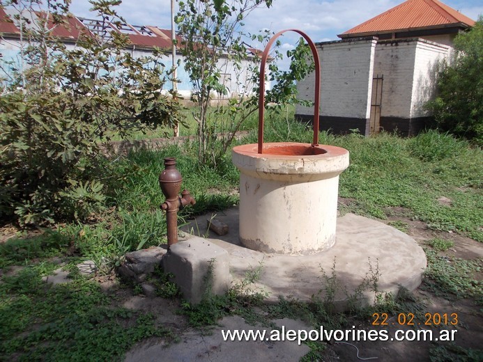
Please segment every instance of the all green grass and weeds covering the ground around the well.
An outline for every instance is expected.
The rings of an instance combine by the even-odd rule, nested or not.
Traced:
[[[285,114],[268,112],[265,130],[266,142],[312,141],[312,131],[287,120]],[[240,142],[256,142],[256,130]],[[320,143],[339,145],[351,152],[351,166],[339,180],[339,196],[349,200],[344,211],[386,219],[402,208],[405,217],[421,220],[433,230],[451,230],[483,242],[482,150],[432,131],[411,139],[385,133],[367,138],[321,132]],[[63,224],[43,235],[17,237],[0,244],[1,356],[20,361],[119,360],[139,340],[150,336],[176,339],[169,329],[155,322],[153,315],[119,307],[115,293],[102,292],[97,282],[77,272],[72,272],[73,281],[67,285],[46,285],[41,278],[58,268],[59,261],[75,271],[75,263],[86,258],[95,261],[100,274],[111,274],[127,251],[164,244],[166,222],[160,211],[164,196],[158,184],[164,157],[176,157],[183,175],[182,187],[197,200],[194,207],[181,212],[180,223],[194,214],[224,210],[238,203],[233,190],[238,188],[239,174],[230,154],[213,169],[197,164],[195,146],[186,143],[109,160],[117,179],[111,180],[103,211],[94,214],[89,223]],[[441,203],[438,198],[442,196],[450,203]],[[390,224],[408,231],[404,221]],[[475,280],[480,260],[443,255],[452,246],[441,237],[428,241],[429,267],[422,287],[447,299],[470,297],[481,304],[482,285]],[[243,288],[249,288],[255,277],[247,276]],[[325,277],[332,281],[332,274]],[[153,278],[161,297],[178,298],[167,276],[157,271]],[[134,294],[142,290],[135,285],[126,288],[132,288]],[[300,317],[313,326],[334,328],[354,317],[335,313],[328,308],[328,301],[316,299],[308,304],[282,299],[272,306],[260,302],[260,298],[243,297],[241,290],[232,290],[224,297],[207,297],[199,306],[183,304],[181,311],[196,326],[214,323],[227,314],[266,322],[275,317]],[[416,308],[408,298],[380,296],[376,308],[407,312],[410,304]],[[360,320],[367,320],[369,312],[353,311]],[[309,358],[317,359],[325,345],[313,343],[310,347]],[[433,352],[437,361],[444,351]]]

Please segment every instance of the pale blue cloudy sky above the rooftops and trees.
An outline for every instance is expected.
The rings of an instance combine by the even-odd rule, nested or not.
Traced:
[[[314,42],[337,40],[337,34],[397,6],[404,0],[273,0],[270,8],[257,8],[245,19],[245,31],[257,33],[266,28],[279,31],[296,28]],[[177,1],[176,1],[177,3]],[[482,0],[445,0],[443,3],[477,19],[483,14]],[[93,17],[88,0],[72,0],[70,11],[80,17]],[[170,0],[123,0],[118,13],[135,25],[154,25],[170,29]],[[284,48],[298,39],[295,33],[282,39]]]

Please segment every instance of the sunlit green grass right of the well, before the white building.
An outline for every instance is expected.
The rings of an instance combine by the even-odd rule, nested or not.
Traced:
[[[483,215],[475,212],[483,207],[482,151],[446,135],[436,139],[443,145],[436,144],[435,149],[454,152],[441,159],[440,152],[436,157],[431,148],[421,148],[419,141],[427,134],[413,139],[390,134],[337,138],[337,145],[351,152],[351,166],[340,177],[339,196],[354,199],[353,212],[358,214],[385,219],[391,207],[404,207],[413,219],[434,230],[457,231],[483,242]],[[441,196],[452,204],[441,204]]]

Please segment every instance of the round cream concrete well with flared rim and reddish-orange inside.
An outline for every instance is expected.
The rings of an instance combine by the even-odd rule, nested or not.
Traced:
[[[233,148],[240,170],[240,242],[265,253],[307,255],[335,243],[339,174],[348,150],[309,143]]]

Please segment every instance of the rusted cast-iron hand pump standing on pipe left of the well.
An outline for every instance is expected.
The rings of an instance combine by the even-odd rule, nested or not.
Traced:
[[[169,249],[172,244],[178,242],[178,211],[187,205],[194,205],[196,201],[187,190],[183,190],[179,196],[183,178],[176,168],[174,157],[164,159],[164,170],[159,180],[162,194],[166,197],[166,201],[161,204],[161,209],[166,211]]]

